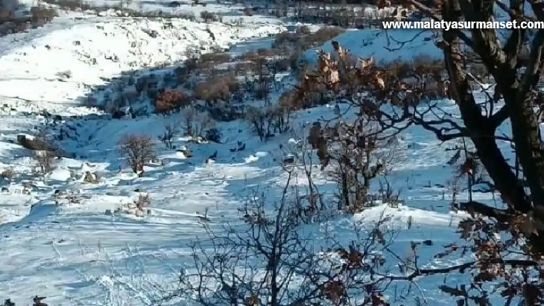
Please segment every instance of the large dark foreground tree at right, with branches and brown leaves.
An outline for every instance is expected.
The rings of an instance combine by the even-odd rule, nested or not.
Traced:
[[[379,6],[389,3],[380,1]],[[544,5],[531,0],[407,0],[402,4],[434,21],[493,24],[496,14],[510,21],[544,21]],[[532,14],[527,14],[528,7]],[[436,45],[443,52],[449,77],[444,91],[454,99],[460,120],[442,109],[440,101],[427,101],[422,88],[410,86],[404,79],[391,76],[387,67],[376,64],[348,67],[347,71],[352,71],[356,78],[349,81],[351,91],[343,101],[360,108],[359,116],[392,133],[417,125],[434,133],[440,141],[465,139],[474,148],[470,154],[463,154],[465,161],[460,161],[466,165],[463,173],[469,174],[469,184],[475,179],[471,173],[479,165],[480,171],[489,177],[490,186],[500,193],[502,205],[498,207],[475,199],[459,204],[460,210],[474,215],[472,220],[461,223],[460,232],[462,239],[474,244],[473,254],[478,260],[451,267],[453,270],[448,272],[478,272],[471,284],[461,289],[446,285],[441,289],[458,297],[459,304],[488,305],[490,293],[481,289],[482,284],[498,282],[494,292],[503,296],[505,304],[511,304],[514,298],[527,305],[542,303],[544,286],[540,281],[529,280],[529,275],[542,272],[544,254],[544,140],[537,111],[541,104],[538,82],[544,69],[544,30],[516,28],[499,32],[473,27],[442,30],[440,37]],[[397,41],[397,49],[411,41]],[[494,93],[486,91],[489,86],[471,72],[474,61],[489,73]],[[478,89],[482,90],[479,95]],[[503,128],[508,132],[503,133]],[[510,147],[502,146],[504,142]],[[502,232],[511,238],[497,240]],[[520,239],[522,247],[518,244]],[[508,255],[520,252],[520,248],[524,258],[529,259],[509,260]],[[520,277],[515,276],[518,274]],[[499,280],[504,278],[507,281],[501,283]],[[469,293],[469,286],[477,290]]]

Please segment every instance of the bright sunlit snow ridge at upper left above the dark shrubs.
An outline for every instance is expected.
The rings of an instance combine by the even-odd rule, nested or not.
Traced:
[[[281,24],[197,23],[145,18],[64,20],[14,42],[0,39],[0,92],[42,102],[78,102],[90,86],[123,71],[186,60],[191,51],[210,52],[285,30]],[[37,37],[36,37],[37,36]],[[30,38],[30,39],[29,39]],[[29,90],[32,89],[32,90]]]

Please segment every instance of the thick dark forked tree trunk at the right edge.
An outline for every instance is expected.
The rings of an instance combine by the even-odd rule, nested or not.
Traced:
[[[452,0],[448,2],[448,7],[444,8],[443,16],[445,21],[459,20],[461,12],[458,8],[455,8],[455,3],[456,0]],[[523,83],[521,84],[517,81],[516,65],[512,65],[515,62],[515,56],[512,57],[512,54],[505,54],[500,51],[493,33],[473,32],[473,49],[480,55],[490,73],[493,74],[497,82],[497,90],[502,93],[506,104],[506,108],[500,110],[504,114],[499,118],[497,116],[485,117],[481,114],[462,66],[459,34],[454,31],[443,33],[446,42],[444,60],[451,80],[453,95],[459,105],[465,127],[469,131],[469,136],[477,149],[478,157],[506,204],[510,208],[517,210],[518,213],[533,213],[535,232],[529,236],[531,247],[533,247],[535,253],[543,254],[544,146],[542,145],[539,122],[534,115],[529,92],[542,70],[541,53],[542,45],[544,45],[542,43],[544,41],[544,32],[539,33],[541,35],[539,39],[542,41],[535,40],[533,43],[530,56],[533,63],[527,65],[527,69],[531,71],[522,80]],[[537,35],[537,38],[539,35]],[[535,48],[537,43],[540,43],[541,46]],[[508,50],[508,52],[510,51]],[[514,58],[514,60],[511,58]],[[506,118],[510,118],[511,121],[516,155],[530,189],[530,198],[522,182],[506,162],[495,139],[498,125]],[[483,211],[481,213],[485,214]],[[508,210],[503,211],[503,213],[514,217]],[[509,217],[506,220],[511,222]]]

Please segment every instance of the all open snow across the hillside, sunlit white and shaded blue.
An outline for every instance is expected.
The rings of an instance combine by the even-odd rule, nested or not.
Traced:
[[[128,133],[157,139],[164,124],[176,118],[111,120],[86,107],[86,97],[123,72],[173,65],[187,59],[188,50],[226,49],[282,32],[285,26],[274,18],[264,23],[265,17],[236,26],[186,20],[166,26],[145,18],[79,17],[65,15],[43,28],[0,39],[0,172],[16,173],[11,180],[0,178],[0,298],[10,297],[17,305],[27,305],[34,295],[46,296],[52,306],[147,305],[175,289],[179,268],[189,261],[188,243],[203,235],[202,214],[207,211],[212,228],[224,222],[242,224],[237,209],[252,188],[261,186],[274,198],[285,184],[279,165],[285,153],[279,146],[288,147],[292,139],[304,136],[293,133],[260,142],[246,123],[220,122],[222,143],[174,140],[178,148],[190,148],[193,157],[165,149],[157,141],[158,158],[165,163],[146,168],[139,178],[126,166],[120,171],[119,139]],[[422,36],[410,52],[397,51],[391,57],[381,52],[386,46],[383,38],[371,40],[372,48],[363,45],[361,38],[373,36],[373,30],[362,30],[338,40],[362,57],[437,54],[432,41]],[[251,43],[262,44],[247,42],[244,48]],[[455,113],[449,101],[442,103]],[[61,145],[72,154],[45,177],[35,174],[32,154],[16,142],[17,135],[32,135],[45,122],[43,111],[63,116],[57,132],[64,129],[70,135]],[[300,111],[293,126],[307,126],[332,113],[332,107]],[[245,151],[230,152],[238,141],[246,144]],[[451,194],[446,190],[453,169],[444,166],[448,155],[430,133],[416,127],[406,130],[399,143],[391,180],[401,188],[404,205],[379,205],[355,216],[333,218],[330,225],[343,233],[353,221],[372,223],[385,214],[391,216],[390,226],[401,230],[396,251],[406,254],[411,241],[431,240],[432,246],[422,247],[419,262],[448,264],[432,257],[457,238],[456,224],[465,217],[449,211]],[[215,151],[215,163],[206,164]],[[100,182],[85,183],[86,171],[96,172]],[[332,195],[335,186],[327,182],[326,174],[317,169],[314,175]],[[106,214],[133,203],[141,193],[151,197],[149,214]],[[490,193],[474,192],[473,197],[494,199]],[[441,282],[441,276],[419,282],[429,305],[454,303],[437,289]],[[406,298],[402,303],[417,301]]]

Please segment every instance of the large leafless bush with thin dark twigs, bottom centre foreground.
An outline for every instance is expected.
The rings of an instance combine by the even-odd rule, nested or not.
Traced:
[[[386,226],[391,220],[386,216],[368,226],[353,224],[341,239],[325,228],[315,243],[316,235],[309,234],[298,217],[304,204],[300,190],[289,187],[295,180],[288,171],[275,201],[258,191],[249,195],[239,208],[243,226],[226,224],[214,231],[204,224],[207,237],[191,246],[191,268],[182,271],[180,287],[163,301],[190,299],[202,306],[387,306],[388,298],[397,298],[382,293],[391,282],[410,287],[418,276],[440,273],[392,253],[395,230]],[[412,244],[410,256],[415,256],[416,243]],[[398,266],[402,270],[395,273],[392,268]],[[395,286],[401,296],[409,292]]]

